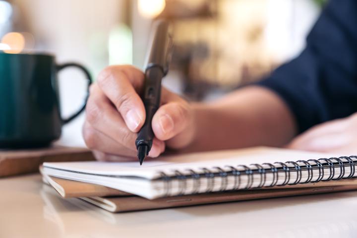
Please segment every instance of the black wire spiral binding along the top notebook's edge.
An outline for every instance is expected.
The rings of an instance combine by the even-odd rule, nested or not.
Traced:
[[[300,163],[300,165],[299,165]],[[303,164],[303,165],[301,165]],[[349,167],[347,167],[349,166]],[[183,195],[187,192],[187,179],[192,179],[192,190],[190,193],[195,194],[201,192],[212,192],[212,191],[226,191],[229,186],[229,178],[234,178],[234,184],[230,190],[240,190],[240,189],[250,189],[253,188],[254,181],[257,176],[259,176],[259,183],[254,185],[254,188],[260,187],[273,187],[273,186],[285,186],[285,185],[295,185],[298,183],[309,183],[309,182],[319,182],[319,181],[329,181],[329,180],[339,180],[339,179],[351,179],[357,178],[355,175],[357,166],[357,156],[342,156],[339,158],[321,158],[318,160],[298,160],[288,161],[285,163],[275,162],[273,164],[251,164],[249,167],[245,165],[238,166],[224,166],[224,167],[213,167],[213,168],[201,168],[203,172],[197,173],[194,170],[186,170],[181,172],[179,170],[173,171],[174,175],[169,176],[167,173],[160,172],[160,179],[165,183],[165,194],[170,196],[172,192],[173,180],[178,181],[178,192],[175,195]],[[255,167],[255,168],[254,168]],[[268,168],[267,168],[268,167]],[[336,169],[339,169],[338,173]],[[350,173],[346,174],[346,168],[350,168]],[[328,178],[325,178],[325,170],[329,171]],[[302,171],[307,171],[307,178],[303,181]],[[296,173],[296,179],[291,180],[292,173]],[[315,174],[316,173],[316,174]],[[318,173],[318,174],[317,174]],[[270,184],[267,183],[267,175],[272,175],[272,181]],[[279,182],[279,176],[284,175],[284,181]],[[318,175],[316,179],[314,179]],[[242,187],[242,176],[246,176],[247,182]],[[216,178],[221,178],[221,183],[219,188],[216,187]],[[336,178],[335,178],[336,177]],[[207,179],[206,189],[202,188],[202,179]],[[314,180],[313,180],[314,179]],[[279,182],[279,184],[278,184]]]

